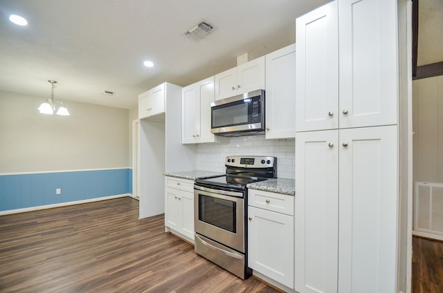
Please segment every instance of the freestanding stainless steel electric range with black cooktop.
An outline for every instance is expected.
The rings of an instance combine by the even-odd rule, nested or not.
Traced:
[[[277,158],[228,156],[225,166],[226,176],[195,180],[195,252],[244,279],[252,272],[246,185],[274,178]]]

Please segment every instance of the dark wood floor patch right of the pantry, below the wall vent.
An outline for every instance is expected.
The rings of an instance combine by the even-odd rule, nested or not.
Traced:
[[[443,293],[443,242],[413,237],[413,293]]]

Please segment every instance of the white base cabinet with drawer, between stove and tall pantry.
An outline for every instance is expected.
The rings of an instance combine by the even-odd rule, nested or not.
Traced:
[[[291,289],[294,276],[293,198],[248,190],[248,267]]]

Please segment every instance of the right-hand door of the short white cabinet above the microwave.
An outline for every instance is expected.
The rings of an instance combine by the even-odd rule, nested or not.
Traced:
[[[263,89],[264,83],[264,59],[259,57],[250,62],[237,66],[237,95]]]

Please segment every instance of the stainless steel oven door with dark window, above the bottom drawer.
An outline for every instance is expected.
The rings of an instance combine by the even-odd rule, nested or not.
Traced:
[[[194,186],[194,228],[238,252],[245,252],[244,193]]]

